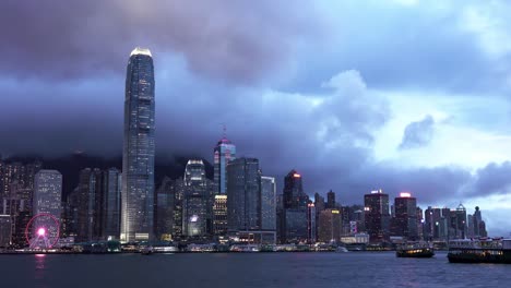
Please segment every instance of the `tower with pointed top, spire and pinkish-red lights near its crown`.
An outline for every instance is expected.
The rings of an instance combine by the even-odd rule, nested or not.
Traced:
[[[214,148],[214,182],[217,194],[227,193],[227,165],[236,159],[236,146],[224,134]]]

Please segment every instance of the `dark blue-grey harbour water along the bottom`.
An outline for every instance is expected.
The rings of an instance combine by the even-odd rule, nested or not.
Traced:
[[[0,255],[0,287],[508,287],[511,265],[394,252]]]

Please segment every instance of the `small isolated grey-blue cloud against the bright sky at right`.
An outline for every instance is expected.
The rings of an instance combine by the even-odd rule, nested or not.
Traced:
[[[428,145],[433,136],[435,119],[428,115],[423,120],[406,125],[400,149],[413,149]]]

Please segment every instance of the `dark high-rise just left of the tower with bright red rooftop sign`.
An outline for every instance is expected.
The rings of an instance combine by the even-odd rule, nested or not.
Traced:
[[[364,195],[366,230],[369,241],[384,242],[390,236],[389,195],[381,190]]]

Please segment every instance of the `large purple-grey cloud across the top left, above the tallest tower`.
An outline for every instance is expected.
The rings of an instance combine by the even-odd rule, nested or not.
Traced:
[[[117,74],[134,46],[147,46],[182,55],[200,74],[251,83],[286,62],[293,39],[311,33],[314,24],[301,15],[287,1],[272,0],[8,0],[0,10],[7,44],[0,73]]]

